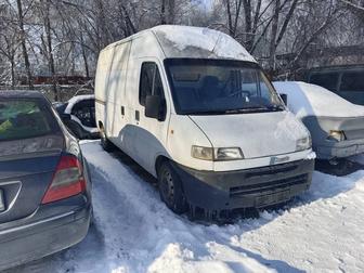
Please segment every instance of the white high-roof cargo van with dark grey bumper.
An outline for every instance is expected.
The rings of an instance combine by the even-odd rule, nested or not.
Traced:
[[[220,31],[157,26],[109,44],[95,102],[103,147],[116,145],[158,178],[177,213],[265,207],[310,186],[309,131]]]

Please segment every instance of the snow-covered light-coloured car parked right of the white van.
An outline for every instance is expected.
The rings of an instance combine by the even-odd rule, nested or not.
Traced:
[[[315,84],[273,84],[278,93],[287,94],[288,108],[310,130],[317,158],[333,160],[364,153],[364,106]]]

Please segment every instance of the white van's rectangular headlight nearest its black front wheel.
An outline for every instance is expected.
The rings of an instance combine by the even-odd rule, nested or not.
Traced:
[[[210,161],[226,161],[244,159],[243,152],[239,147],[202,147],[192,146],[191,155],[194,158]]]

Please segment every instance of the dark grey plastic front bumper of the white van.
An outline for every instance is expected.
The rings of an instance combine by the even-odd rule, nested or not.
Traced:
[[[268,207],[310,187],[313,159],[234,171],[200,171],[174,164],[188,204],[207,210]]]

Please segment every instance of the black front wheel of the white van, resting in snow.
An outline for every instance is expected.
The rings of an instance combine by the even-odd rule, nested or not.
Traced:
[[[181,180],[168,161],[164,161],[158,168],[158,188],[160,199],[170,210],[178,214],[187,211]]]

